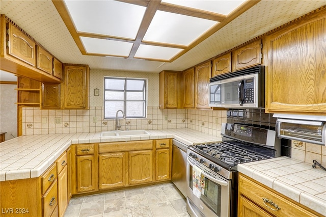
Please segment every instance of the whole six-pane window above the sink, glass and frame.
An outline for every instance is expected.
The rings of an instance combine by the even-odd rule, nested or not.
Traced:
[[[104,119],[116,118],[118,110],[126,118],[146,118],[146,84],[142,78],[104,77]]]

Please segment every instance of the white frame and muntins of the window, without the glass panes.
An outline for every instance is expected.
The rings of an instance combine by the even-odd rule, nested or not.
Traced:
[[[124,83],[124,89],[123,90],[116,90],[116,89],[110,89],[110,87],[105,87],[105,80],[106,79],[124,79],[125,80],[125,83]],[[143,90],[142,91],[137,91],[137,90],[127,90],[127,80],[143,80],[144,81],[144,87],[143,87]],[[103,94],[103,107],[104,107],[104,112],[103,112],[103,116],[104,116],[104,119],[115,119],[116,116],[114,117],[105,117],[105,102],[110,102],[110,101],[123,101],[123,112],[124,114],[126,115],[126,118],[128,119],[135,119],[135,118],[146,118],[147,117],[147,78],[134,78],[134,77],[111,77],[111,76],[104,76],[104,84],[103,84],[103,90],[104,90],[104,94]],[[114,100],[110,100],[110,99],[105,99],[105,91],[116,91],[116,92],[123,92],[123,99],[114,99]],[[143,93],[143,100],[127,100],[127,92],[142,92]],[[132,117],[128,117],[127,116],[127,102],[131,102],[131,101],[142,101],[144,104],[143,104],[143,116],[132,116]],[[119,118],[122,117],[122,114],[119,113],[118,114]]]

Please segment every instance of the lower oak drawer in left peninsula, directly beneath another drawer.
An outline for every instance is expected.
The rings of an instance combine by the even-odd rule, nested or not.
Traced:
[[[43,216],[50,216],[58,207],[58,188],[57,180],[51,185],[50,189],[42,197]]]

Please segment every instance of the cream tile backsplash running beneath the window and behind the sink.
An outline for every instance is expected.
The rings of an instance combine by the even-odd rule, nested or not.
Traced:
[[[191,128],[211,135],[220,135],[221,123],[226,121],[226,111],[199,111],[185,109],[160,110],[147,107],[147,118],[121,119],[121,129],[175,129]],[[101,132],[115,130],[115,119],[103,119],[103,107],[90,110],[40,110],[24,107],[22,134],[54,134],[76,132]]]

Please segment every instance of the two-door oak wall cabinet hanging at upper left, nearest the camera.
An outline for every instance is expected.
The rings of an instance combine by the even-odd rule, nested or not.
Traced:
[[[38,82],[61,83],[52,56],[6,15],[0,17],[0,69]]]

